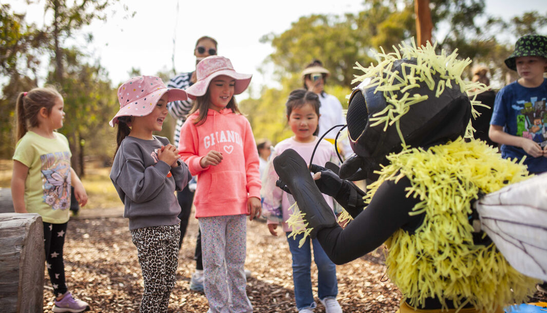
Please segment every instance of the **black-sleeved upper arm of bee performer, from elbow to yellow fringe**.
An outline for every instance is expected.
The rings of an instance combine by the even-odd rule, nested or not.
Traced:
[[[404,189],[409,186],[406,178],[397,184],[386,181],[366,209],[345,229],[335,226],[319,230],[317,239],[331,261],[335,264],[353,261],[379,247],[399,228],[414,232],[421,225],[423,215],[409,215],[418,203],[417,199],[405,197]]]

